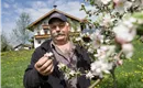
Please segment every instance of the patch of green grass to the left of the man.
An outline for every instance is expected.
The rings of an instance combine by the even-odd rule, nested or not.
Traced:
[[[23,74],[33,51],[0,53],[0,88],[23,88]]]

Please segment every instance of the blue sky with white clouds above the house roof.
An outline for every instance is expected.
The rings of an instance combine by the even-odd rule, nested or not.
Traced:
[[[31,15],[32,22],[46,14],[56,4],[57,9],[68,14],[84,19],[86,13],[79,11],[84,0],[0,0],[0,30],[8,36],[15,28],[15,22],[22,12]],[[86,3],[88,7],[88,4]],[[88,7],[90,8],[90,7]]]

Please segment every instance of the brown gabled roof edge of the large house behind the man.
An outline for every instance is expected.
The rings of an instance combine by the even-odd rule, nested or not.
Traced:
[[[81,21],[80,19],[78,19],[78,18],[76,18],[76,16],[73,16],[73,15],[70,15],[70,14],[67,14],[67,13],[61,11],[61,10],[53,9],[53,10],[51,10],[50,12],[47,12],[45,15],[43,15],[43,16],[41,16],[40,19],[37,19],[36,21],[32,22],[32,23],[28,26],[28,29],[32,31],[32,30],[33,30],[32,26],[36,25],[38,22],[43,21],[45,18],[50,16],[50,15],[51,15],[52,13],[54,13],[54,12],[63,13],[63,14],[65,14],[67,18],[72,18],[72,19],[77,20],[77,21],[79,21],[79,22]]]

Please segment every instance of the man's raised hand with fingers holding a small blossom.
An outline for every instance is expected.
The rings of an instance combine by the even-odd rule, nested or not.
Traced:
[[[36,64],[34,65],[36,70],[43,75],[47,76],[51,73],[53,73],[54,65],[53,65],[53,59],[50,59],[48,56],[45,54],[43,57],[41,57]]]

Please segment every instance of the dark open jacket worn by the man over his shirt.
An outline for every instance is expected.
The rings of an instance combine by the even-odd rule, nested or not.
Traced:
[[[67,88],[63,78],[63,74],[58,70],[56,59],[53,61],[55,66],[54,72],[48,76],[42,76],[34,68],[34,64],[46,52],[52,52],[51,40],[47,40],[34,51],[31,58],[31,64],[25,69],[24,74],[23,84],[25,88]],[[85,70],[90,68],[89,56],[86,50],[79,45],[76,45],[75,53],[77,55],[77,68],[79,68],[81,73],[85,73]],[[77,78],[77,88],[88,88],[89,85],[90,80],[85,76]]]

